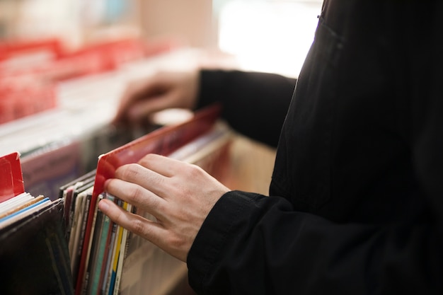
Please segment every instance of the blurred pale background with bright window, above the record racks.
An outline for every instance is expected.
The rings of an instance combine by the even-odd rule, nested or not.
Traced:
[[[320,10],[321,0],[0,0],[0,41],[173,39],[232,54],[243,69],[297,76]]]

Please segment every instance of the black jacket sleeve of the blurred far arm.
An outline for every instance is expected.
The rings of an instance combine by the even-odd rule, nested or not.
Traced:
[[[200,71],[197,108],[216,101],[233,129],[270,146],[277,146],[296,79],[245,71]]]

